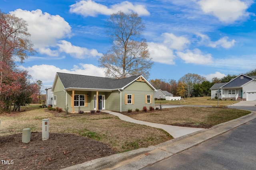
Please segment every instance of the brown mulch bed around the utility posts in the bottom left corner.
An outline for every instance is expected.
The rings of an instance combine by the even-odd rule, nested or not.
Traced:
[[[0,160],[10,163],[0,162],[5,170],[58,170],[115,153],[104,143],[65,133],[49,133],[42,141],[41,132],[32,132],[27,144],[22,133],[0,137]]]

